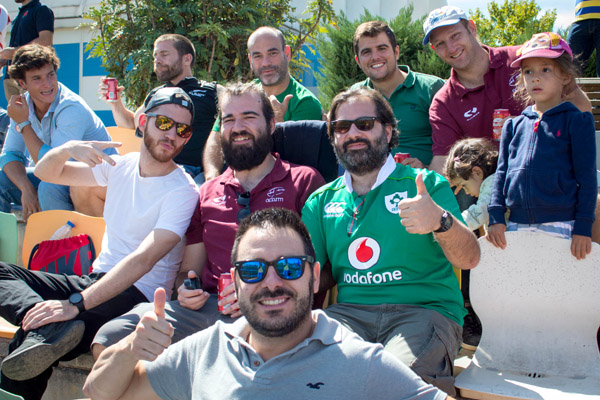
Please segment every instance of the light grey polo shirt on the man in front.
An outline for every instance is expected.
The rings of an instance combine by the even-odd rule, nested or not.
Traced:
[[[162,399],[435,399],[425,384],[380,344],[363,341],[322,311],[311,337],[268,361],[246,342],[245,318],[170,346],[146,372]]]

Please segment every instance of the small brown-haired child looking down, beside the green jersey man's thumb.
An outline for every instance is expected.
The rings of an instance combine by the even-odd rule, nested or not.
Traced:
[[[487,139],[459,140],[448,153],[444,175],[451,186],[456,186],[454,194],[464,189],[469,196],[477,197],[477,203],[462,212],[463,219],[472,231],[482,226],[487,229],[487,207],[492,197],[497,163],[498,152]]]

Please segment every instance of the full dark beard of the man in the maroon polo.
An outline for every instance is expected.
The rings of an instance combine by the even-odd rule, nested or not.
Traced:
[[[253,144],[251,146],[234,146],[233,139],[238,136],[251,137]],[[256,136],[248,131],[232,132],[229,140],[221,135],[223,159],[235,171],[247,171],[259,166],[271,153],[272,148],[273,138],[266,130],[259,130]]]

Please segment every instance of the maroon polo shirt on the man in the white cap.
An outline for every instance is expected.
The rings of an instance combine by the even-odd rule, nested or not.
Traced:
[[[510,66],[520,46],[482,47],[490,57],[484,84],[467,89],[452,70],[450,79],[431,102],[429,122],[434,156],[447,155],[456,141],[466,137],[491,140],[495,109],[507,108],[510,115],[520,115],[525,108],[513,98],[519,70]]]

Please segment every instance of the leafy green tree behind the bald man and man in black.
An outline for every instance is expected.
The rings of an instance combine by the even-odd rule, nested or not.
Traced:
[[[322,24],[335,21],[332,0],[312,0],[302,18],[291,0],[102,0],[85,14],[95,37],[91,57],[125,86],[127,103],[140,104],[159,82],[152,72],[154,40],[164,33],[187,36],[196,47],[194,76],[208,81],[250,80],[246,41],[260,26],[282,29],[292,48],[290,70],[307,67],[304,44],[314,42]]]

